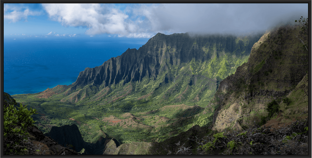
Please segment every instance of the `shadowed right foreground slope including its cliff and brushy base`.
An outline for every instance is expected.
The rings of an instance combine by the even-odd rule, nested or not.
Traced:
[[[300,30],[300,26],[282,26],[264,34],[248,62],[221,81],[209,105],[194,118],[194,124],[213,122],[153,142],[149,152],[308,155],[309,54],[295,34],[304,43],[308,37]],[[277,112],[262,122],[274,101]]]

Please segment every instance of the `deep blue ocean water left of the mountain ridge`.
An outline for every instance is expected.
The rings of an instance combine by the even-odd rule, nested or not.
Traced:
[[[4,38],[3,90],[38,93],[76,81],[86,67],[102,65],[147,38]]]

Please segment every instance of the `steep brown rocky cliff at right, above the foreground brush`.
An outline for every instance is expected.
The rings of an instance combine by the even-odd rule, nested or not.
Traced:
[[[263,35],[253,46],[248,62],[220,83],[215,103],[211,105],[218,107],[213,117],[213,129],[242,129],[257,125],[261,116],[267,115],[265,109],[272,100],[278,101],[280,113],[285,116],[283,110],[287,108],[282,99],[308,72],[308,51],[302,49],[295,34],[300,34],[299,27],[284,26]],[[295,118],[298,116],[288,117],[288,120],[291,123]]]

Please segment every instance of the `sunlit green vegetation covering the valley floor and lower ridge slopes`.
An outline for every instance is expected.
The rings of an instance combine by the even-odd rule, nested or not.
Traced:
[[[205,39],[207,43],[197,37],[191,50],[183,51],[203,50],[207,60],[196,60],[194,57],[188,63],[178,63],[168,58],[160,65],[157,77],[146,75],[139,81],[128,83],[121,80],[108,87],[86,85],[76,90],[70,89],[70,86],[67,89],[51,88],[56,94],[47,99],[38,98],[37,93],[12,97],[37,109],[39,114],[35,120],[45,133],[51,126],[76,124],[86,142],[96,142],[103,132],[119,142],[163,141],[195,124],[207,126],[212,123],[216,108],[212,107],[204,115],[203,109],[216,93],[220,81],[247,62],[251,46],[260,37],[260,34],[239,38],[211,36]],[[181,50],[177,50],[176,46],[166,46],[160,51],[176,53]],[[172,106],[181,104],[188,108]],[[122,116],[128,112],[141,117],[141,120],[127,127],[124,126],[127,122],[112,124],[102,121],[111,115],[126,119]],[[159,117],[169,120],[159,121]],[[144,126],[139,127],[138,124]],[[145,129],[146,126],[151,129]]]

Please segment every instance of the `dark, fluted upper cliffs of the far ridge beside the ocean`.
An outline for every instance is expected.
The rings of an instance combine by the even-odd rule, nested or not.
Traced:
[[[196,61],[211,59],[213,54],[205,52],[202,48],[216,47],[218,53],[222,50],[224,52],[235,51],[236,56],[248,55],[248,51],[245,51],[248,48],[244,47],[242,41],[236,42],[236,39],[234,36],[214,35],[192,38],[188,34],[158,33],[139,50],[128,49],[121,56],[112,57],[101,66],[85,68],[73,85],[80,88],[87,84],[103,84],[106,87],[121,80],[124,80],[124,83],[141,81],[146,75],[149,78],[152,76],[156,78],[162,70],[168,69],[165,62],[180,65],[190,62],[193,58]]]

